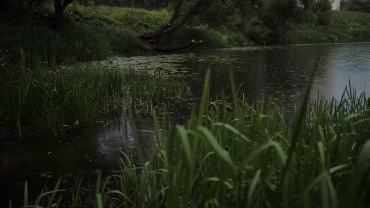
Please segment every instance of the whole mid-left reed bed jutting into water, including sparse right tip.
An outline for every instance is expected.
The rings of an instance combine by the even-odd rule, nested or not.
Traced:
[[[0,125],[23,131],[63,131],[116,118],[124,109],[151,112],[189,95],[185,75],[149,74],[117,67],[63,66],[23,59],[0,66]]]

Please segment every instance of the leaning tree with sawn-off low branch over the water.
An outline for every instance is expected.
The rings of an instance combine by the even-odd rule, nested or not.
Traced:
[[[158,30],[137,34],[141,40],[149,43],[155,50],[179,50],[192,44],[202,43],[201,40],[191,40],[181,46],[155,46],[157,39],[168,36],[181,28],[186,28],[186,26],[201,23],[205,27],[215,28],[225,24],[235,26],[241,21],[240,10],[233,3],[233,0],[174,0],[168,7],[173,12],[166,24]]]

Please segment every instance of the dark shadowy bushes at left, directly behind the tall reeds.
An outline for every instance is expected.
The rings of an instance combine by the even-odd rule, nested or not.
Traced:
[[[111,54],[108,41],[92,28],[75,30],[50,30],[48,26],[0,26],[0,48],[12,54],[23,49],[28,61],[61,62],[71,57],[76,60],[105,58]],[[42,37],[40,39],[40,37]],[[15,57],[20,59],[19,56]]]

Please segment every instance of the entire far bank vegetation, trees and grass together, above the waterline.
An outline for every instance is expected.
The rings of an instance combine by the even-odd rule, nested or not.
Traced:
[[[0,48],[59,62],[153,49],[370,40],[369,13],[329,11],[328,0],[53,2],[2,1]]]

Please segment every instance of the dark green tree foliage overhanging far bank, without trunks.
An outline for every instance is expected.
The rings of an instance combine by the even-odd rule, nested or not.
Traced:
[[[177,0],[84,0],[81,3],[174,11]],[[278,43],[294,23],[328,24],[332,17],[329,0],[200,0],[195,15],[185,25],[214,30],[237,30],[253,41]],[[181,14],[197,5],[197,0],[182,3]],[[178,21],[182,20],[179,18]]]

